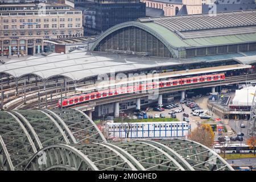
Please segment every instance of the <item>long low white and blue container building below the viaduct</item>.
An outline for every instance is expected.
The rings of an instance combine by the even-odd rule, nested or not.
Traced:
[[[177,122],[130,122],[106,123],[105,133],[109,138],[170,138],[185,137],[189,124]]]

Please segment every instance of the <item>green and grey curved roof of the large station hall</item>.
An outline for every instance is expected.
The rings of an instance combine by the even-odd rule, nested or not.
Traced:
[[[256,42],[256,10],[140,18],[138,23],[174,48]]]

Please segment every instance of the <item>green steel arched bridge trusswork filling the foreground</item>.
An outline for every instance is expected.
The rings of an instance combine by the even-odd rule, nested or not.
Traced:
[[[0,171],[233,170],[190,140],[106,142],[74,109],[0,111]]]

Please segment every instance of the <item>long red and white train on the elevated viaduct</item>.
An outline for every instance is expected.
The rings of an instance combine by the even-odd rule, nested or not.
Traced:
[[[174,80],[164,80],[158,82],[150,82],[139,85],[131,85],[131,86],[119,86],[117,88],[109,88],[108,90],[102,90],[100,92],[92,92],[88,94],[81,94],[80,96],[73,96],[64,98],[62,102],[63,107],[73,106],[77,104],[81,104],[82,102],[96,100],[98,98],[111,97],[120,94],[126,93],[134,93],[142,90],[150,90],[157,88],[164,88],[169,86],[177,86],[177,85],[187,85],[187,84],[195,84],[199,82],[209,82],[209,81],[217,81],[217,80],[225,80],[225,74],[219,73],[216,75],[203,75],[203,76],[195,76],[188,78],[177,78]],[[58,106],[60,107],[60,100],[58,102]]]

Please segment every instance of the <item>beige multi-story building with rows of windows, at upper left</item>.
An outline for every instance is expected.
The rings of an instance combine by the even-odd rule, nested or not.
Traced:
[[[48,52],[46,40],[82,36],[82,11],[44,3],[0,6],[1,55]]]

